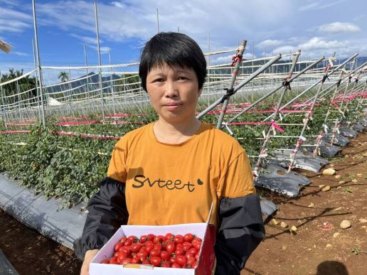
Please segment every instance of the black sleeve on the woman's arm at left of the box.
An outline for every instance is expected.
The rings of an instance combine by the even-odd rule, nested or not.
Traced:
[[[127,224],[125,184],[109,177],[101,180],[87,210],[82,237],[74,242],[75,255],[82,260],[87,250],[102,248],[121,225]]]

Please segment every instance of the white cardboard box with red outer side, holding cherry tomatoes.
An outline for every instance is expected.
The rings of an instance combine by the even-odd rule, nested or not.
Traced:
[[[115,244],[124,236],[135,235],[140,237],[144,234],[165,235],[193,233],[203,239],[201,251],[196,269],[174,269],[154,267],[153,269],[139,269],[124,267],[119,264],[100,264],[103,259],[110,259],[115,252]],[[95,255],[90,263],[90,275],[211,275],[215,265],[214,254],[215,229],[213,225],[207,227],[206,223],[188,223],[182,225],[165,225],[165,226],[145,226],[145,225],[122,225],[119,230],[111,237],[102,249]],[[140,266],[140,265],[137,265]]]

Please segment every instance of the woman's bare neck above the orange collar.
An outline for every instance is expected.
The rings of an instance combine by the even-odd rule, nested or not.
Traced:
[[[156,139],[167,144],[180,144],[196,134],[201,121],[193,117],[186,122],[172,123],[159,119],[154,124]]]

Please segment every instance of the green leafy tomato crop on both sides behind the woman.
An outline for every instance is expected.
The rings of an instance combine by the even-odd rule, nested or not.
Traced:
[[[272,99],[274,100],[274,99]],[[327,102],[327,100],[325,101]],[[262,111],[270,108],[270,102],[262,104]],[[314,109],[312,121],[309,123],[307,135],[317,135],[322,129],[328,105],[319,104]],[[238,122],[260,122],[267,117],[261,112],[248,112],[239,117]],[[331,113],[334,119],[338,114]],[[225,119],[230,116],[225,115]],[[304,114],[283,116],[284,124],[300,124]],[[94,119],[94,117],[90,117]],[[156,119],[151,110],[144,117],[129,117],[130,122],[149,123]],[[216,123],[216,115],[206,115],[206,122]],[[48,119],[48,126],[32,126],[30,134],[0,134],[0,171],[20,180],[21,185],[42,192],[46,198],[58,196],[65,205],[75,205],[89,200],[98,188],[98,182],[105,177],[110,154],[115,146],[114,139],[86,139],[81,136],[59,136],[53,131],[73,131],[76,133],[94,133],[109,136],[123,136],[128,131],[139,127],[137,124],[93,124],[78,126],[54,126],[55,118]],[[110,122],[113,122],[111,119]],[[331,124],[329,124],[331,125]],[[233,136],[248,151],[257,156],[262,144],[262,131],[268,125],[230,126]],[[298,136],[302,126],[282,126],[284,136]],[[0,129],[4,130],[1,122]],[[9,129],[8,129],[9,130]],[[225,129],[223,129],[225,130]],[[277,134],[281,134],[277,132]],[[285,148],[296,144],[294,138],[273,138],[270,149]],[[21,143],[21,144],[20,144]]]

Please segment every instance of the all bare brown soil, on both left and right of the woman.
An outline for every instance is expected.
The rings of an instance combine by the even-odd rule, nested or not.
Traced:
[[[299,171],[312,183],[297,198],[262,194],[277,203],[275,220],[289,227],[265,225],[266,237],[241,275],[366,274],[367,222],[362,219],[367,220],[367,134],[359,134],[326,168],[334,168],[336,175]],[[331,189],[323,192],[319,185]],[[342,220],[351,227],[341,229]],[[293,225],[297,231],[291,233]],[[0,249],[19,274],[79,274],[81,262],[72,250],[2,210],[0,232]]]

